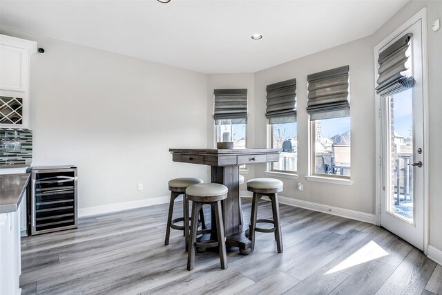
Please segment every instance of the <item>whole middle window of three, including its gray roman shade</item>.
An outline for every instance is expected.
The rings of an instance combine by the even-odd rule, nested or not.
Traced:
[[[298,133],[296,126],[296,79],[267,86],[266,117],[269,120],[269,146],[282,149],[271,171],[295,173]]]

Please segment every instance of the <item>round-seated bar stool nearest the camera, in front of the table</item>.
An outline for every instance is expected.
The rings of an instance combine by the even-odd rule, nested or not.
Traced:
[[[191,234],[189,238],[189,251],[187,252],[187,269],[192,270],[195,264],[195,247],[219,247],[220,263],[222,269],[227,269],[226,237],[224,236],[224,222],[222,220],[221,201],[227,198],[228,189],[218,183],[193,184],[186,189],[186,197],[192,201]],[[215,229],[202,229],[198,231],[198,211],[203,204],[210,204],[215,213],[216,233],[218,240],[196,241],[198,234],[215,234]]]

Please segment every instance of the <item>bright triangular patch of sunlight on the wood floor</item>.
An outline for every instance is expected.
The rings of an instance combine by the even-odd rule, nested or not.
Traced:
[[[369,242],[367,242],[367,244],[358,249],[352,255],[345,258],[343,262],[339,263],[338,265],[336,265],[336,267],[333,267],[325,274],[333,274],[334,272],[339,272],[340,270],[347,269],[355,265],[360,265],[362,263],[366,263],[367,261],[381,258],[387,255],[389,255],[387,251],[382,249],[382,247],[376,244],[376,242],[374,242],[373,240],[370,240]]]

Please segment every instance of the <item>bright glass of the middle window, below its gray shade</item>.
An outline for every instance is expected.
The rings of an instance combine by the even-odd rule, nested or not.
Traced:
[[[296,127],[296,122],[269,125],[271,149],[282,149],[279,161],[271,163],[271,171],[296,172],[298,166],[296,158],[298,132]]]

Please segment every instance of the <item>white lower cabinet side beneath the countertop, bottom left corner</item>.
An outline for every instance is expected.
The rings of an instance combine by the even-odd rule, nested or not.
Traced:
[[[21,274],[19,213],[0,214],[0,295],[18,295]]]

